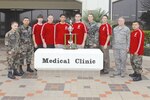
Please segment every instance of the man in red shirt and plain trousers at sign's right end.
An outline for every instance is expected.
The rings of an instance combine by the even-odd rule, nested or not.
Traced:
[[[110,46],[110,36],[112,34],[112,28],[107,23],[108,16],[104,15],[102,17],[102,25],[99,28],[99,45],[101,51],[104,53],[104,66],[103,70],[100,71],[102,74],[108,74],[110,68],[109,60],[109,46]]]

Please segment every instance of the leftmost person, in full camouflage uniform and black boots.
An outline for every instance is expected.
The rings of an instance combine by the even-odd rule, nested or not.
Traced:
[[[5,35],[5,46],[7,48],[8,78],[15,79],[15,76],[21,76],[17,71],[20,57],[20,36],[17,32],[18,23],[12,22],[11,28]]]

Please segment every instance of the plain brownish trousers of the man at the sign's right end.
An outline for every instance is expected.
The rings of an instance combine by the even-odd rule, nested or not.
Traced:
[[[104,49],[103,46],[100,46],[100,50],[103,52],[103,69],[109,71],[110,68],[110,58],[109,58],[109,46]]]

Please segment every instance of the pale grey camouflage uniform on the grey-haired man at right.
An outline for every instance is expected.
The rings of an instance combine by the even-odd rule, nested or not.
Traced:
[[[129,43],[130,29],[127,26],[115,27],[112,35],[112,46],[114,50],[116,73],[118,74],[125,74]]]

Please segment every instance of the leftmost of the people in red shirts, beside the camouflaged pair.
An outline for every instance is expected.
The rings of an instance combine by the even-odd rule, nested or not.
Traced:
[[[41,29],[43,25],[43,15],[37,16],[37,23],[33,25],[32,34],[34,42],[34,51],[38,48],[42,48]]]

